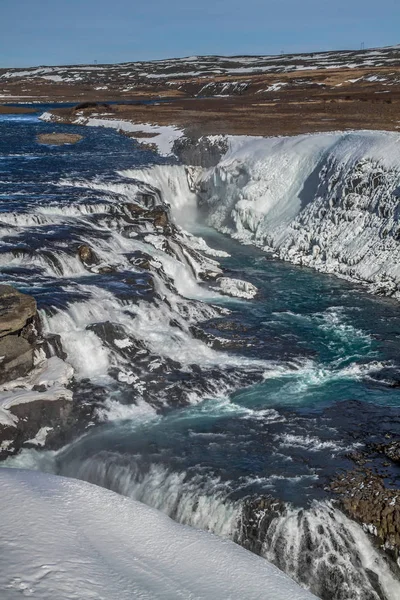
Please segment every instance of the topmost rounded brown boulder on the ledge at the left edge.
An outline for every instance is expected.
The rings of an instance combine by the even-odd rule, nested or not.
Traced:
[[[36,300],[10,285],[0,285],[0,338],[21,331],[36,315]]]

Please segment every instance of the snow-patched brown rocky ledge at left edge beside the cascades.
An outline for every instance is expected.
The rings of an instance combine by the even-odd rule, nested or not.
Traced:
[[[76,426],[64,358],[58,337],[42,333],[35,299],[0,285],[0,459],[28,444],[61,443]]]

